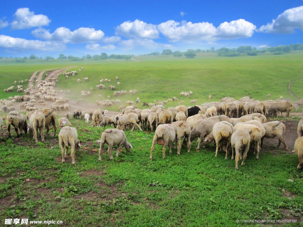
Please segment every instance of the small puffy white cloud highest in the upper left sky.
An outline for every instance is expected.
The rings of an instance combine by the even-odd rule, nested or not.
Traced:
[[[13,29],[25,29],[48,25],[51,20],[47,16],[35,12],[30,12],[29,8],[19,8],[14,14],[15,20],[12,22]]]

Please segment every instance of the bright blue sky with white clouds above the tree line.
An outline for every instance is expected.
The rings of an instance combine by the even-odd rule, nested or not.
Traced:
[[[302,0],[17,0],[1,5],[2,57],[303,43]]]

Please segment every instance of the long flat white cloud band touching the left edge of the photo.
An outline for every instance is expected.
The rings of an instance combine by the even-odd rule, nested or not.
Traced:
[[[6,35],[0,35],[0,47],[12,48],[18,50],[40,50],[40,51],[56,51],[56,50],[65,49],[65,45],[58,42],[26,40],[22,38],[13,38]]]

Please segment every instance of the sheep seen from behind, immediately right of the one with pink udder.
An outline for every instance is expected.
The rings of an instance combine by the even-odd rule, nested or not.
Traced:
[[[190,142],[190,131],[191,127],[189,123],[185,120],[180,120],[173,122],[171,124],[171,127],[174,128],[176,132],[176,139],[175,139],[175,148],[177,148],[177,155],[180,155],[180,150],[181,150],[181,139],[183,139],[182,146],[185,147],[187,144],[187,152],[190,152],[191,148],[191,142]]]

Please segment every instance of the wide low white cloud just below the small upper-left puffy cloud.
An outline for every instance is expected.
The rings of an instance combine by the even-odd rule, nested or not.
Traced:
[[[104,36],[104,32],[101,30],[95,30],[95,28],[78,28],[75,31],[71,31],[68,28],[60,27],[57,28],[54,33],[50,33],[49,30],[44,28],[37,28],[32,31],[32,35],[37,38],[63,41],[64,43],[83,43],[101,40]]]

